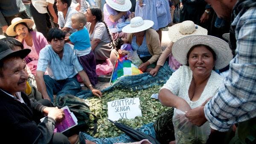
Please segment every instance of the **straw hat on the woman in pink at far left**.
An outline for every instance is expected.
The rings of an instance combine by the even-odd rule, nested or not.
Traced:
[[[15,17],[12,22],[12,24],[7,28],[6,34],[9,36],[15,36],[17,35],[16,32],[14,31],[14,27],[19,24],[19,23],[26,23],[26,25],[29,27],[29,29],[32,29],[34,25],[34,21],[30,19],[22,19],[20,17]]]

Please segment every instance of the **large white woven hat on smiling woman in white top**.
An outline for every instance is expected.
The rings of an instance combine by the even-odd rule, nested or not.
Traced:
[[[178,62],[186,65],[186,55],[189,49],[198,44],[209,46],[215,52],[215,69],[226,67],[233,58],[229,44],[218,37],[210,35],[190,35],[180,38],[172,46],[172,55]]]

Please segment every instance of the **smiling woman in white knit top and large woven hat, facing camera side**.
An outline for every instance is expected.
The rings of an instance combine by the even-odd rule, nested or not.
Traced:
[[[209,35],[180,38],[173,44],[172,54],[184,66],[172,74],[158,98],[164,106],[183,112],[205,104],[216,94],[223,78],[213,69],[224,68],[233,58],[227,42]],[[207,127],[203,134],[206,138],[210,131]],[[178,135],[175,138],[180,139]]]

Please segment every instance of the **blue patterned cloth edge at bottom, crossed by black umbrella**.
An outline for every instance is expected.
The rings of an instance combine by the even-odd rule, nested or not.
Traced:
[[[140,132],[143,132],[147,135],[152,136],[153,138],[156,138],[156,132],[154,130],[154,123],[145,124],[142,127],[138,128]],[[87,133],[82,132],[81,133],[84,138],[86,138],[89,141],[96,142],[96,144],[113,144],[113,143],[129,143],[129,142],[135,142],[131,137],[129,137],[126,134],[122,134],[115,138],[93,138],[92,136],[88,135]]]

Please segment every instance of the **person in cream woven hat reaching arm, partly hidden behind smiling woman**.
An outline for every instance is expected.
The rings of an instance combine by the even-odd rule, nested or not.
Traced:
[[[163,66],[168,57],[169,66],[173,71],[177,70],[181,66],[181,64],[172,55],[172,45],[178,39],[189,35],[207,35],[207,29],[195,25],[195,23],[190,20],[177,23],[169,28],[169,39],[171,42],[163,51],[162,55],[160,55],[157,60],[157,66],[150,71],[150,75],[156,76],[158,70]]]

